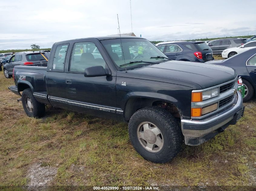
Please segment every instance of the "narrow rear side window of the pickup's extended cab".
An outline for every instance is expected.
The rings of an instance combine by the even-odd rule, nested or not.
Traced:
[[[56,47],[52,63],[53,72],[64,72],[67,49],[68,44],[61,44]]]

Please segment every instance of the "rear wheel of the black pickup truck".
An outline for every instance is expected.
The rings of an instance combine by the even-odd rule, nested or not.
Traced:
[[[39,103],[35,99],[30,88],[22,92],[22,105],[29,117],[43,117],[45,115],[45,104]]]

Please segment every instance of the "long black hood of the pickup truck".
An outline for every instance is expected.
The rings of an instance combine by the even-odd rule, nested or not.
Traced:
[[[194,89],[204,89],[234,79],[237,72],[226,66],[200,62],[168,61],[127,70],[127,72],[118,71],[117,76],[162,81]]]

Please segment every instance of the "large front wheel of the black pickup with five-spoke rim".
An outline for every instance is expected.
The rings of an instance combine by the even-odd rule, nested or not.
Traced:
[[[160,107],[136,111],[131,116],[128,129],[135,150],[148,161],[166,163],[181,150],[181,127],[170,113]]]

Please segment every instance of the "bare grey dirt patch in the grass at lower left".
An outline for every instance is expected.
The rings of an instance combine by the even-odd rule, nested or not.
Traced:
[[[28,178],[27,186],[48,186],[56,174],[57,168],[55,167],[42,167],[41,163],[32,164],[28,168],[26,176]]]

